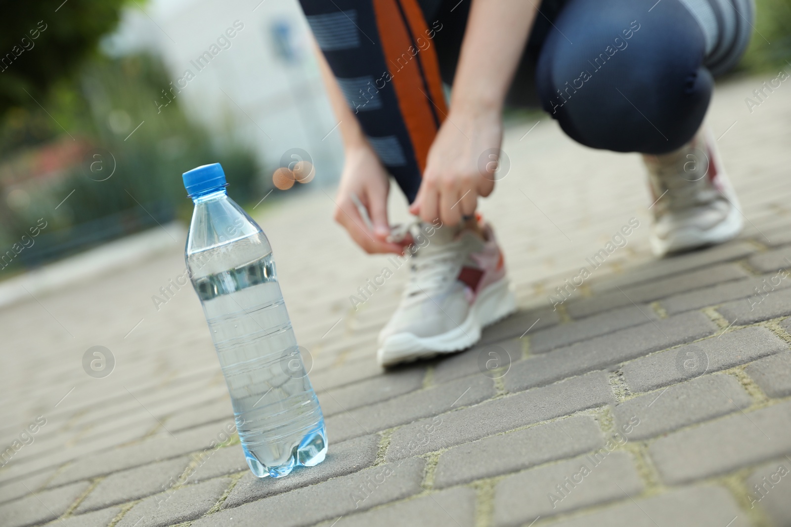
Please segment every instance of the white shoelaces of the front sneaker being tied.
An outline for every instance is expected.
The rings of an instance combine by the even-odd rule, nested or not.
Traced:
[[[464,253],[464,240],[433,243],[431,237],[422,232],[420,225],[416,220],[409,224],[396,225],[392,229],[394,241],[403,240],[408,233],[418,244],[418,250],[411,257],[409,282],[403,292],[405,297],[444,292],[448,284],[456,278]],[[418,240],[422,241],[422,239],[428,239],[428,243],[420,247]]]

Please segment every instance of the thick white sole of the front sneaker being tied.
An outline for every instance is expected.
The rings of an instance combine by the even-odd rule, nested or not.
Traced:
[[[481,329],[517,311],[517,301],[507,278],[489,284],[475,299],[467,318],[458,327],[433,337],[396,333],[377,350],[380,366],[388,367],[441,353],[454,353],[481,340]]]

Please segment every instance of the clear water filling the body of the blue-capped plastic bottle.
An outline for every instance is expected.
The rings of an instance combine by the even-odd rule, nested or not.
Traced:
[[[237,256],[252,256],[255,247],[261,247],[255,238],[188,254],[187,260],[217,348],[248,465],[256,476],[279,477],[297,465],[323,461],[327,436],[272,254],[233,269],[200,270],[218,269],[218,262],[232,250]],[[211,265],[202,265],[205,262]]]

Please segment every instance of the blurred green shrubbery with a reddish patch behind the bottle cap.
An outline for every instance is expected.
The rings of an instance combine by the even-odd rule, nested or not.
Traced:
[[[153,101],[164,100],[168,83],[152,55],[99,56],[56,81],[41,107],[6,112],[0,247],[7,252],[37,220],[47,221],[10,267],[188,218],[191,201],[180,175],[200,164],[221,163],[232,198],[249,200],[258,171],[252,153],[228,130],[209,134],[191,122],[179,100],[157,110]]]

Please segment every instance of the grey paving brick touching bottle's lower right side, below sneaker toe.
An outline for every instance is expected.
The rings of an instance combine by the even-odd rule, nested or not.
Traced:
[[[321,390],[320,386],[316,386],[316,394],[324,416],[331,416],[418,390],[425,375],[423,368],[388,371],[384,375],[332,390]]]

